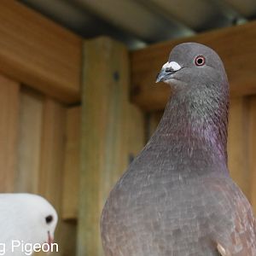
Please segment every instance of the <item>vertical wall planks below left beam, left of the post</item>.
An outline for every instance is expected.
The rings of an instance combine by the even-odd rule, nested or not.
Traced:
[[[63,167],[70,161],[69,155],[64,158],[66,137],[71,136],[70,108],[3,74],[0,91],[1,192],[29,192],[47,198],[64,216],[55,235],[61,255],[73,255],[76,225],[64,221],[66,213],[61,214]]]

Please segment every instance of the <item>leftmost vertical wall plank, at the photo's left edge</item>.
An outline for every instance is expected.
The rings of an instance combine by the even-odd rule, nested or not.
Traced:
[[[20,84],[0,75],[0,193],[15,189]]]

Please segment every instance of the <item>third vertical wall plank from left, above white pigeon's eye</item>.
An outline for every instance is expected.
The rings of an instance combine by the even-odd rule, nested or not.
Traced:
[[[56,205],[61,202],[61,172],[64,158],[65,108],[47,98],[42,127],[41,174],[39,191]]]

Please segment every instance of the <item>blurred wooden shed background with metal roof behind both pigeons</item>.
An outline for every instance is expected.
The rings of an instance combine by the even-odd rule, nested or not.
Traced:
[[[230,174],[256,210],[255,17],[254,0],[1,1],[0,188],[55,206],[53,255],[103,255],[103,204],[158,125],[172,91],[154,80],[182,42],[224,61]]]

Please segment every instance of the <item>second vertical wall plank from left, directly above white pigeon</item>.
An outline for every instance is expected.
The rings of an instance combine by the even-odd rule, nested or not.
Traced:
[[[17,192],[38,193],[43,106],[43,96],[29,89],[21,90]]]

